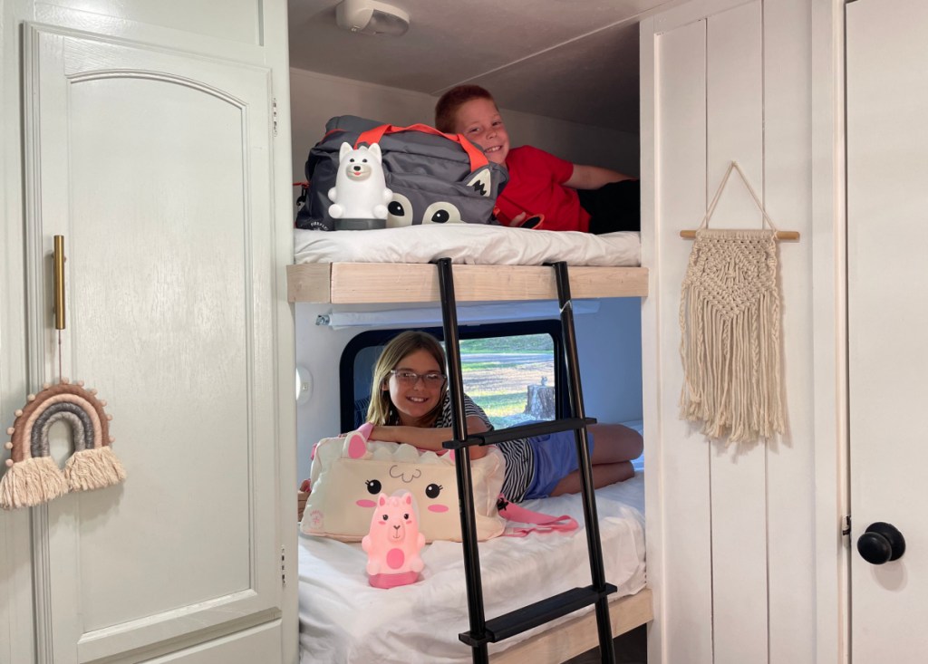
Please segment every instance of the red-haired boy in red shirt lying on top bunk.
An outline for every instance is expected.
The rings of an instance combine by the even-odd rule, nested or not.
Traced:
[[[435,105],[435,127],[464,134],[486,158],[509,169],[496,217],[510,226],[594,234],[638,231],[638,180],[599,166],[561,160],[532,146],[509,149],[496,101],[479,85],[458,85]]]

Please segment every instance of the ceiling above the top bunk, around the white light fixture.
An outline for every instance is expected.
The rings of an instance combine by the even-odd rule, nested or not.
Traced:
[[[505,109],[638,133],[638,21],[676,0],[385,0],[402,37],[335,24],[338,0],[289,0],[290,66],[441,95],[487,88]]]

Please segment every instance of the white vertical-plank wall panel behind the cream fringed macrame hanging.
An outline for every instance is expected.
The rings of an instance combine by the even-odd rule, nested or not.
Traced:
[[[816,662],[809,0],[697,0],[641,35],[643,312],[651,663]],[[695,228],[738,160],[780,229],[788,427],[707,441],[678,419],[679,287]],[[713,227],[760,227],[735,176]],[[657,505],[658,509],[653,509]]]

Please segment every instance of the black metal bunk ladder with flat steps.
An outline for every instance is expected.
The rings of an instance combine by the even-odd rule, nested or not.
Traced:
[[[456,450],[455,467],[458,477],[458,505],[461,518],[461,544],[464,549],[464,576],[467,582],[470,631],[458,634],[458,638],[470,645],[474,664],[489,662],[487,644],[497,643],[516,634],[526,632],[538,625],[566,616],[579,608],[595,605],[599,632],[599,653],[604,663],[614,664],[612,629],[609,619],[609,594],[616,587],[605,581],[602,563],[602,544],[599,540],[599,520],[596,514],[596,498],[593,494],[593,471],[586,447],[586,426],[595,419],[586,417],[583,391],[580,388],[580,366],[577,359],[574,312],[571,301],[570,280],[567,263],[556,262],[554,269],[558,285],[558,301],[561,305],[561,331],[567,360],[568,387],[571,415],[552,422],[525,425],[468,435],[467,418],[464,415],[464,386],[461,376],[460,345],[458,338],[458,312],[455,301],[454,279],[451,275],[451,259],[435,261],[438,266],[439,289],[442,298],[442,325],[445,329],[445,351],[448,356],[448,392],[451,398],[452,430],[454,440],[445,442],[445,448]],[[472,481],[470,473],[470,446],[489,445],[496,442],[528,438],[558,431],[574,431],[576,452],[579,459],[584,520],[586,522],[586,546],[589,552],[589,567],[592,584],[585,588],[574,588],[561,594],[518,608],[498,618],[487,620],[483,611],[483,585],[480,573],[480,555],[477,550],[477,530],[474,517]]]

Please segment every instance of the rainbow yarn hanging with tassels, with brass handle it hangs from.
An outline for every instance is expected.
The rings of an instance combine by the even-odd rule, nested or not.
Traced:
[[[64,329],[63,239],[55,236],[55,326],[58,329],[58,376],[61,374],[61,331]],[[68,492],[90,491],[118,484],[125,479],[122,463],[112,452],[111,415],[106,402],[97,399],[96,389],[84,382],[60,378],[58,385],[45,383],[37,394],[26,398],[16,411],[13,426],[6,429],[11,450],[6,473],[0,479],[0,507],[32,507]],[[49,433],[61,422],[71,430],[73,453],[64,471],[51,457]]]

